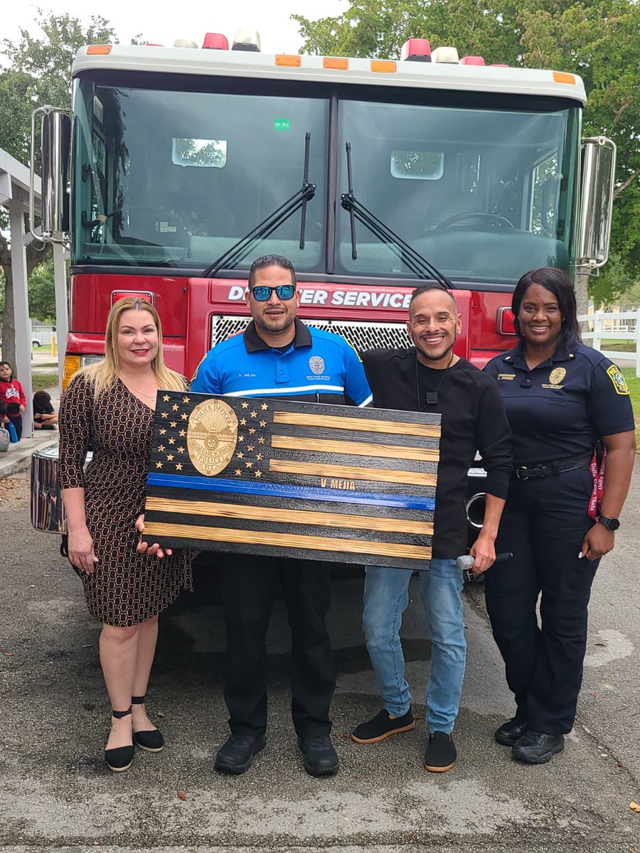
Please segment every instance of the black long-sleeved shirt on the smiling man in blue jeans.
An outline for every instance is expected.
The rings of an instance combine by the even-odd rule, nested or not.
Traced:
[[[467,550],[465,499],[468,469],[476,450],[486,468],[482,490],[505,498],[511,473],[510,432],[500,394],[492,380],[461,358],[446,371],[416,361],[416,350],[370,350],[364,368],[378,409],[442,415],[438,485],[433,519],[433,558],[451,560]],[[426,394],[438,389],[438,402]],[[418,404],[420,395],[420,405]]]

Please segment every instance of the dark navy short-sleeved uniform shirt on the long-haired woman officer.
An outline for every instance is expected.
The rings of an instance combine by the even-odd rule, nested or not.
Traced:
[[[485,371],[507,409],[516,466],[588,456],[603,435],[635,429],[625,377],[590,346],[573,341],[530,370],[518,345]]]

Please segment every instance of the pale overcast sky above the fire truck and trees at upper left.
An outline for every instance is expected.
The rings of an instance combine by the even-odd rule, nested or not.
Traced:
[[[148,3],[136,0],[109,0],[86,3],[85,0],[0,0],[0,38],[20,37],[20,27],[35,30],[38,7],[61,15],[67,12],[88,21],[91,14],[102,15],[112,24],[119,38],[128,42],[140,33],[143,41],[170,46],[176,38],[192,38],[202,44],[205,32],[222,32],[231,40],[238,27],[258,30],[264,53],[297,53],[302,40],[292,13],[317,18],[340,15],[349,8],[348,0],[202,0],[183,3]]]

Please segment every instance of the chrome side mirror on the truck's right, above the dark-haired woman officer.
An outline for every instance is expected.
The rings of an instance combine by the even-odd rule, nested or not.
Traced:
[[[608,260],[614,184],[615,143],[606,136],[583,139],[576,267],[585,272]]]

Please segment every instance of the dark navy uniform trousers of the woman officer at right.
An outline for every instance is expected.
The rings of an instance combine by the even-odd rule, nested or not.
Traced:
[[[599,563],[578,559],[593,524],[587,514],[592,486],[588,468],[512,478],[496,550],[514,556],[485,576],[486,608],[516,717],[546,734],[571,731],[582,683],[587,606]]]

